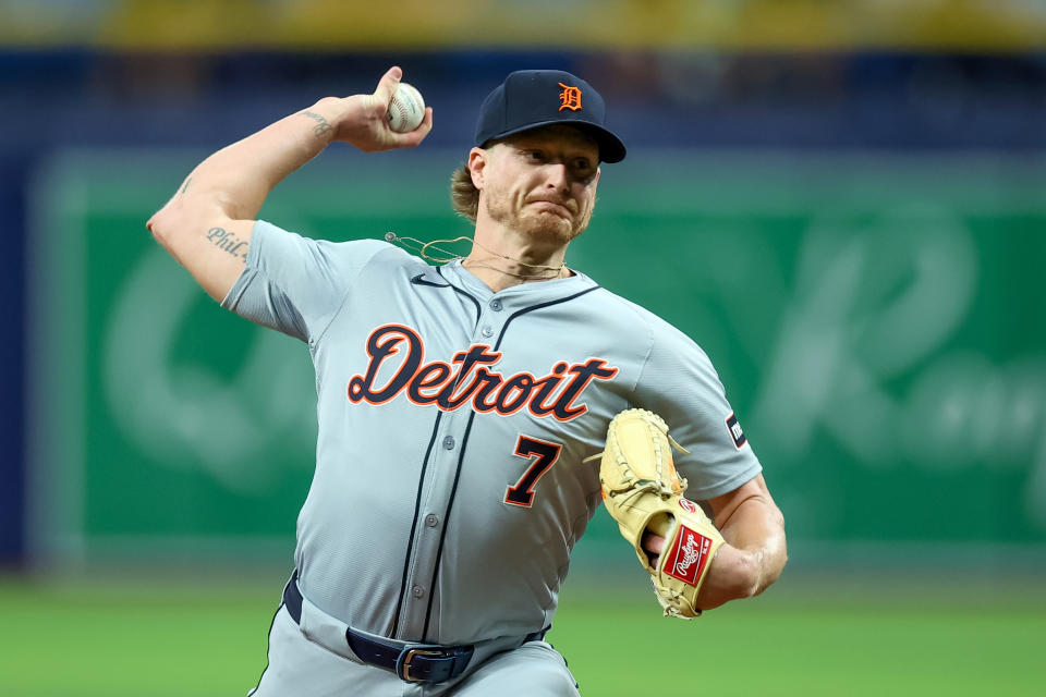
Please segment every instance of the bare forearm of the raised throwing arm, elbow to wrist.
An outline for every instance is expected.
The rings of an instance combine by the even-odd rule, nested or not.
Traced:
[[[169,206],[186,217],[254,219],[276,185],[330,143],[326,101],[218,150],[192,171]]]

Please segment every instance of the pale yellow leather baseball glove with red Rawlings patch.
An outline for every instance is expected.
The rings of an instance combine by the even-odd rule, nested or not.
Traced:
[[[689,620],[701,614],[697,594],[723,540],[701,506],[682,497],[686,480],[676,472],[673,445],[686,452],[658,415],[621,412],[607,429],[599,482],[607,511],[650,574],[665,614]],[[645,533],[665,538],[656,560],[643,548]]]

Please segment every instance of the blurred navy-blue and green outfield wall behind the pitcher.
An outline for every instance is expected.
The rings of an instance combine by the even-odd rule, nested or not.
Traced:
[[[404,32],[398,40],[410,50],[374,33],[365,51],[351,34],[292,50],[244,30],[246,20],[222,24],[208,14],[219,4],[251,14],[253,1],[194,2],[190,11],[0,0],[12,10],[0,23],[0,565],[17,566],[31,550],[66,561],[110,550],[143,564],[154,550],[173,559],[175,547],[285,563],[311,466],[309,409],[299,411],[311,394],[304,378],[267,399],[254,376],[297,384],[307,358],[270,370],[293,342],[230,323],[151,246],[142,223],[206,154],[320,96],[369,90],[390,64],[402,65],[436,110],[425,144],[373,159],[349,148],[325,154],[278,192],[275,219],[308,234],[338,237],[355,224],[380,235],[397,211],[391,222],[418,237],[464,232],[447,215],[442,187],[471,145],[483,95],[522,68],[584,75],[607,97],[630,155],[608,168],[596,227],[573,260],[713,354],[789,514],[793,564],[801,549],[838,562],[902,548],[931,565],[959,552],[973,565],[1042,563],[1043,313],[1034,279],[1046,61],[1009,32],[995,35],[1009,44],[948,38],[960,25],[976,27],[978,39],[1000,26],[970,12],[1013,22],[1030,3],[1004,12],[957,1],[969,12],[855,0],[829,13],[783,0],[788,22],[770,0],[698,3],[730,21],[701,24],[719,38],[677,23],[680,45],[644,25],[637,45],[623,48],[611,35],[582,49],[521,22],[503,25],[516,38],[498,50],[484,48],[478,33],[425,49]],[[327,4],[349,16],[344,3]],[[556,12],[583,4],[648,3],[586,0]],[[902,34],[878,35],[880,45],[847,35],[855,23],[831,20],[827,28],[842,32],[831,35],[804,20],[872,5],[890,20],[946,12],[951,21],[900,21],[893,29]],[[155,13],[121,14],[132,10]],[[365,25],[351,19],[354,30]],[[170,34],[138,32],[147,47],[127,48],[111,30],[134,34],[154,21]],[[774,32],[798,26],[801,40],[820,48],[778,44],[757,30],[761,22]],[[609,26],[597,24],[585,28]],[[341,32],[333,21],[312,25]],[[231,40],[228,27],[243,40]],[[860,28],[878,32],[872,22]],[[331,179],[315,181],[320,173]],[[374,191],[361,188],[364,181]],[[366,212],[374,200],[387,201],[380,215]],[[143,297],[162,289],[166,304],[127,299],[136,288]],[[136,332],[138,322],[153,333]],[[295,389],[305,392],[283,399]],[[252,431],[252,419],[281,435],[271,465],[255,464],[268,450],[241,448],[271,438]],[[202,438],[211,439],[206,452]],[[254,469],[256,480],[245,481]],[[968,511],[987,523],[953,525]],[[582,550],[610,543],[606,530],[598,523]]]

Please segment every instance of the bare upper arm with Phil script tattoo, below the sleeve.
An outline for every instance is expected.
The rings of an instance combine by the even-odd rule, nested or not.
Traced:
[[[221,302],[246,266],[254,223],[186,215],[168,205],[146,227],[207,294]]]

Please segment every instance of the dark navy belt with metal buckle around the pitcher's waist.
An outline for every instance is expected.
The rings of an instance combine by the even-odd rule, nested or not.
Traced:
[[[297,572],[283,589],[283,606],[295,623],[302,623],[302,591],[297,589]],[[527,634],[523,639],[542,639],[548,629]],[[461,675],[475,650],[472,646],[438,644],[392,644],[345,629],[345,641],[364,663],[384,668],[408,683],[445,683]]]

